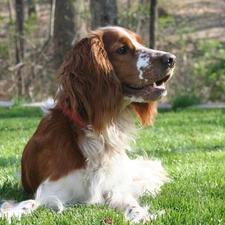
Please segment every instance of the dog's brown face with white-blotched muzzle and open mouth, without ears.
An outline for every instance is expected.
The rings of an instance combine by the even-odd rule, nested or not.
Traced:
[[[142,103],[166,95],[164,84],[172,76],[174,55],[144,47],[139,36],[124,28],[106,27],[100,33],[125,99]]]

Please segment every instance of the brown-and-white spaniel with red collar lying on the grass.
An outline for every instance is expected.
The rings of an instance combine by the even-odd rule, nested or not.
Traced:
[[[138,197],[155,195],[168,178],[160,161],[128,157],[132,113],[142,125],[152,124],[175,59],[121,27],[103,27],[79,41],[59,70],[54,105],[22,155],[22,185],[36,198],[4,203],[2,215],[87,203],[123,210],[134,223],[151,221]]]

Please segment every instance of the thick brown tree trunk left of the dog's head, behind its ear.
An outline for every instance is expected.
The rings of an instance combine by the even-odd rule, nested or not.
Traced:
[[[74,1],[56,0],[54,22],[54,67],[57,70],[62,64],[66,53],[72,47],[75,35]]]

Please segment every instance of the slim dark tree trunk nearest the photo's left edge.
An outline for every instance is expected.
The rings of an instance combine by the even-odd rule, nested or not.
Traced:
[[[16,64],[22,63],[24,59],[24,10],[23,10],[23,0],[16,0]],[[23,75],[22,75],[22,67],[19,67],[17,70],[17,94],[18,97],[22,97],[24,95],[23,90]]]

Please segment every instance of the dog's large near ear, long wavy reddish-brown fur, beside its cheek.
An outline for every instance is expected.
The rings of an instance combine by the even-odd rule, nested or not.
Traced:
[[[60,68],[58,101],[100,133],[122,104],[122,88],[101,35],[78,42]],[[56,100],[57,100],[56,98]]]

